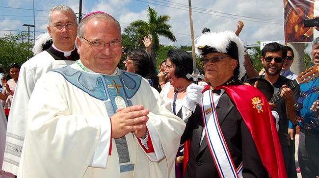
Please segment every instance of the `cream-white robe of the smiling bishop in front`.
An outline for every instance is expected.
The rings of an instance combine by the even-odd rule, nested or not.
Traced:
[[[81,70],[77,64],[71,67]],[[185,123],[145,79],[130,101],[150,110],[146,125],[154,147],[154,153],[145,153],[140,139],[132,133],[126,135],[134,164],[133,177],[174,178],[175,156]],[[110,143],[112,150],[108,155]],[[120,178],[119,158],[104,102],[56,72],[41,77],[28,103],[18,177]]]

